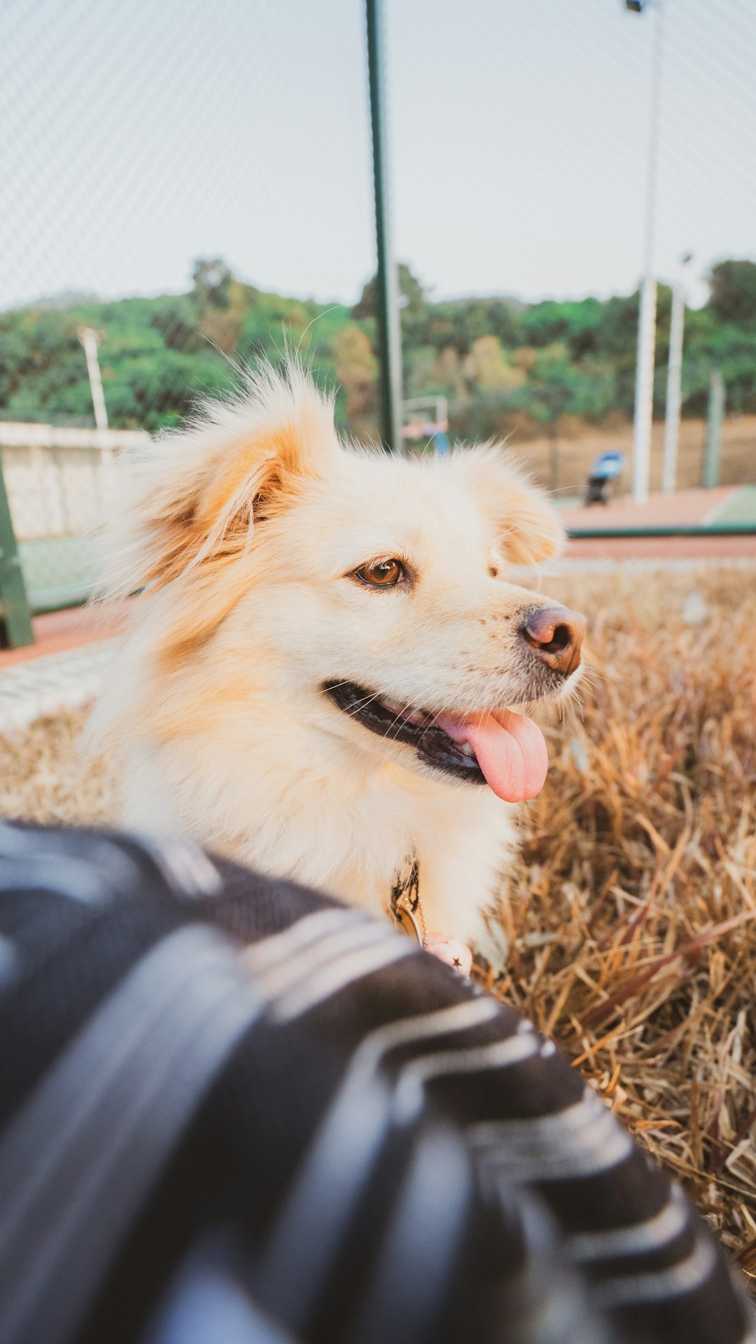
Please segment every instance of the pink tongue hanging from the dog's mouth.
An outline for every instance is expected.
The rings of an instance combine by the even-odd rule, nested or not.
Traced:
[[[543,788],[549,753],[543,734],[523,714],[500,710],[472,719],[439,719],[453,742],[469,742],[488,788],[504,802],[534,798]]]

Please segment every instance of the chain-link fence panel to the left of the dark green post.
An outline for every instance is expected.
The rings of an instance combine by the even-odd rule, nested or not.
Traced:
[[[342,419],[369,405],[331,297],[373,265],[363,48],[343,0],[4,7],[0,452],[36,607],[91,582],[104,457],[234,366],[301,344]]]

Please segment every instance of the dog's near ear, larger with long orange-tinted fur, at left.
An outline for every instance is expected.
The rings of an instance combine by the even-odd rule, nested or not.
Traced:
[[[110,593],[161,587],[242,555],[256,520],[285,507],[340,452],[332,398],[297,366],[264,366],[234,399],[209,402],[133,464],[110,536]],[[126,487],[128,488],[128,487]]]

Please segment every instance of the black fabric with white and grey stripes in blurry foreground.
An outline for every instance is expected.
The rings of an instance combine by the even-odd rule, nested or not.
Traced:
[[[0,1075],[1,1344],[756,1341],[530,1023],[183,841],[0,827]]]

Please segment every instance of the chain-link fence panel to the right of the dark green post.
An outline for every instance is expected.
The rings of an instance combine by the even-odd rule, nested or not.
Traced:
[[[582,493],[609,449],[626,454],[630,485],[648,263],[659,282],[651,489],[675,288],[686,298],[677,485],[705,481],[718,376],[712,474],[755,482],[756,9],[439,0],[387,15],[400,255],[424,286],[474,296],[426,302],[405,276],[406,395],[444,392],[452,437],[511,435],[562,495]]]

